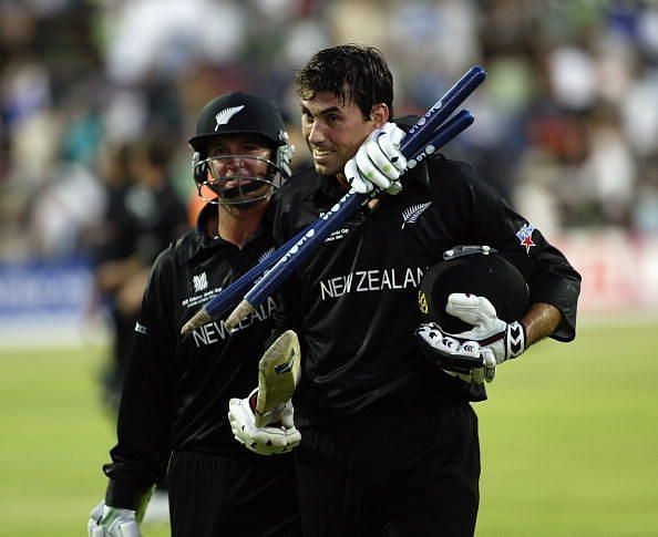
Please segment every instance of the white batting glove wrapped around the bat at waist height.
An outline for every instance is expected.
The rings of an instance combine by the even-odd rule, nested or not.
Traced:
[[[287,453],[301,442],[301,434],[295,426],[292,402],[280,404],[269,415],[269,424],[256,426],[256,397],[258,389],[248,397],[232,399],[228,402],[228,421],[233,435],[240,444],[258,455]]]

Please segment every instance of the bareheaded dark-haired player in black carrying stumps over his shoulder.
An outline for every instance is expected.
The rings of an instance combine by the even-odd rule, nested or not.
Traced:
[[[279,192],[277,244],[328,211],[350,185],[387,190],[280,291],[279,330],[297,331],[302,355],[292,403],[304,534],[471,536],[480,447],[470,403],[484,389],[424,358],[471,351],[457,338],[455,345],[436,338],[441,327],[419,328],[419,283],[455,245],[489,245],[511,260],[530,287],[520,319],[486,317],[483,297],[451,310],[471,324],[486,318],[470,334],[480,338],[471,349],[500,364],[543,338],[574,339],[580,277],[467,164],[438,154],[400,177],[404,131],[391,123],[392,76],[376,49],[316,53],[297,73],[296,90],[315,169]],[[504,344],[511,340],[514,352]]]

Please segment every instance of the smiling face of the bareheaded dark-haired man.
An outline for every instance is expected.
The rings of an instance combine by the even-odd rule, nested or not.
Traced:
[[[320,175],[342,174],[346,163],[354,156],[361,143],[387,120],[385,105],[376,105],[371,118],[366,120],[357,104],[343,102],[331,92],[302,100],[301,134],[310,149],[316,172]]]

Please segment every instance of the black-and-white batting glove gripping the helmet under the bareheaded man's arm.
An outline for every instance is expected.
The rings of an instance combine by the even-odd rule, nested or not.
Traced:
[[[473,328],[448,333],[435,322],[421,324],[415,337],[431,360],[466,382],[493,381],[496,364],[525,351],[525,330],[518,321],[505,322],[485,297],[452,293],[445,311]]]

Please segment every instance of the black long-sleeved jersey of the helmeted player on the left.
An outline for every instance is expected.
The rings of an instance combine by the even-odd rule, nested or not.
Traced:
[[[196,229],[154,262],[135,327],[119,442],[111,451],[113,463],[104,466],[111,505],[130,505],[157,482],[172,451],[258,457],[234,440],[228,400],[245,397],[258,382],[275,300],[264,302],[233,334],[218,320],[181,335],[204,303],[273,251],[269,233],[243,249],[209,237],[206,229],[217,228],[208,226],[216,214],[217,207],[207,205]]]

